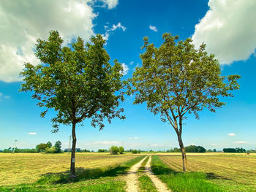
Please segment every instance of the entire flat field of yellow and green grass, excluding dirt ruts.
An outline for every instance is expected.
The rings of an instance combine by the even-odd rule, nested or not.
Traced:
[[[173,192],[256,191],[256,154],[188,153],[187,174],[181,173],[179,153],[152,155],[154,174]],[[78,180],[70,183],[70,154],[0,153],[0,191],[125,191],[125,175],[147,153],[109,155],[77,153]],[[140,191],[156,191],[138,170]]]

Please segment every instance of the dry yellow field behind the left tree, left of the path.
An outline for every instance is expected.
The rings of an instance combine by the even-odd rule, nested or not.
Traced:
[[[108,153],[77,153],[76,167],[94,169],[114,166],[137,155],[108,155]],[[0,153],[0,186],[34,183],[42,174],[69,170],[70,154]]]

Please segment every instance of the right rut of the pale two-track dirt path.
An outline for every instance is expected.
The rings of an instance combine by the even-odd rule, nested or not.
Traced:
[[[170,190],[167,189],[167,186],[165,185],[165,183],[162,183],[161,180],[159,180],[159,178],[154,175],[154,173],[151,171],[151,155],[148,158],[148,163],[145,166],[145,172],[146,175],[152,180],[152,182],[154,183],[154,185],[157,188],[157,191],[159,192],[170,192]]]

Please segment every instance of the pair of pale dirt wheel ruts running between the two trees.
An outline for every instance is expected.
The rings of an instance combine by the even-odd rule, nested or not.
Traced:
[[[138,169],[140,169],[141,164],[143,161],[147,158],[143,158],[138,164],[135,164],[134,166],[131,167],[129,172],[127,173],[126,181],[127,181],[127,192],[137,192],[138,190]],[[157,188],[157,191],[159,192],[171,192],[170,190],[167,189],[167,186],[165,183],[162,183],[159,178],[154,175],[154,173],[151,171],[151,155],[148,158],[148,162],[145,166],[145,172],[146,175],[152,180],[154,185]]]

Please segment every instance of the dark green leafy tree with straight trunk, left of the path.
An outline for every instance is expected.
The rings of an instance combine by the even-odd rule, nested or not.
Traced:
[[[59,131],[60,124],[72,126],[70,177],[74,179],[77,124],[91,119],[91,126],[102,130],[105,118],[109,123],[112,118],[124,119],[123,109],[118,108],[124,100],[119,92],[123,68],[116,60],[110,65],[105,40],[99,34],[86,44],[80,37],[70,47],[63,42],[58,31],[50,31],[48,40],[37,39],[35,55],[41,63],[25,64],[20,91],[31,91],[37,105],[46,107],[42,118],[49,109],[56,111],[51,119],[53,133]]]

